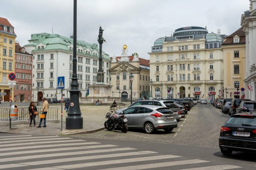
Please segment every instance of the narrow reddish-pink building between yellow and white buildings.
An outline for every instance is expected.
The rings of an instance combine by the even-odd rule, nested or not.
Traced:
[[[13,100],[16,102],[32,100],[32,57],[32,54],[15,42],[16,86]]]

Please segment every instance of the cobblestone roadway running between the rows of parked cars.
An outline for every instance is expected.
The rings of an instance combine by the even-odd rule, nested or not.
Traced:
[[[127,133],[122,133],[117,130],[107,131],[104,129],[78,136],[218,147],[220,127],[228,118],[227,114],[221,113],[221,110],[212,105],[198,104],[188,112],[186,118],[178,123],[178,128],[174,128],[170,133],[166,133],[164,130],[157,130],[154,134],[146,134],[142,130],[129,130]]]

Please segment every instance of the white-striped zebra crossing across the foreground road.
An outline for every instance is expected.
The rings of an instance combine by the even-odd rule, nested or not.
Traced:
[[[0,136],[0,169],[12,170],[226,170],[235,165],[186,159],[139,148],[61,136]],[[184,166],[186,165],[186,166]],[[188,167],[189,168],[184,168]]]

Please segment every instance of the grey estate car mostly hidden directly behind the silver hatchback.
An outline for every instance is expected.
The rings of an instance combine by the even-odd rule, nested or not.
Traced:
[[[131,104],[128,107],[131,106],[141,106],[141,105],[155,105],[155,106],[162,106],[162,107],[168,107],[170,108],[174,113],[176,113],[176,120],[177,122],[181,119],[181,110],[177,104],[174,103],[174,101],[168,101],[168,100],[141,100],[136,101],[133,104]]]

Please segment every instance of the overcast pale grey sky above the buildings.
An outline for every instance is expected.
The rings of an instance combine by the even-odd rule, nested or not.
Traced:
[[[77,0],[77,39],[98,43],[99,25],[105,30],[103,50],[149,59],[156,39],[181,27],[207,26],[208,32],[230,35],[240,28],[249,0]],[[13,25],[16,41],[28,43],[31,34],[73,32],[73,0],[1,0],[1,16]]]

